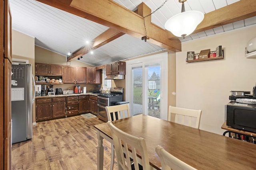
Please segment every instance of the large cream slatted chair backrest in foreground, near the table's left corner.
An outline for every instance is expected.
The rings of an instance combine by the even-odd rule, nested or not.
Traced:
[[[150,165],[145,139],[135,137],[121,131],[114,126],[111,121],[108,121],[108,126],[110,127],[112,133],[118,169],[131,170],[132,167],[130,158],[132,158],[135,170],[139,170],[138,163],[143,166],[143,169],[149,170]],[[122,145],[124,147],[122,147]],[[129,152],[128,148],[132,150],[132,153]],[[137,151],[141,154],[141,162],[138,161]],[[124,153],[126,155],[125,157]]]

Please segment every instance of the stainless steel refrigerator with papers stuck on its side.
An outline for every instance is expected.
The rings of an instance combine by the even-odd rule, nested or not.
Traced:
[[[12,64],[12,143],[32,138],[32,84],[32,65]]]

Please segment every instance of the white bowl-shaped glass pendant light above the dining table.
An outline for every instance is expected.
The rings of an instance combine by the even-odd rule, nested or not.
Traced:
[[[171,31],[176,37],[185,38],[190,35],[199,23],[204,19],[204,14],[200,11],[186,11],[184,2],[187,0],[179,0],[182,3],[181,13],[176,14],[166,21],[164,27]]]

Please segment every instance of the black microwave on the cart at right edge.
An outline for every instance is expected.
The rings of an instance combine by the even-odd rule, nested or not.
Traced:
[[[256,105],[231,101],[226,114],[227,126],[256,133]]]

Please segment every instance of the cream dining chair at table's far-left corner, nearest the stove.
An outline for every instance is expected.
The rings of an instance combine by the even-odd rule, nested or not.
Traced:
[[[129,104],[106,106],[105,108],[107,111],[108,121],[114,121],[114,120],[120,119],[121,115],[122,115],[122,118],[130,117]],[[114,145],[111,144],[110,170],[113,170],[114,168],[114,157],[115,157]]]

